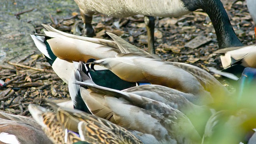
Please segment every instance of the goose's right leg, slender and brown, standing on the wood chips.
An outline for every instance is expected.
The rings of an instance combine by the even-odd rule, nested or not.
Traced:
[[[154,29],[155,29],[155,18],[153,16],[145,16],[144,21],[146,24],[147,34],[148,34],[148,52],[150,54],[155,54],[154,47]]]

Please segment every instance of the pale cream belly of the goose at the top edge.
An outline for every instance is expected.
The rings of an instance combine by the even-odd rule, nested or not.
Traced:
[[[191,11],[185,6],[186,0],[111,0],[95,2],[91,0],[74,0],[83,14],[99,12],[107,16],[128,17],[136,14],[146,16],[183,16]],[[182,2],[184,1],[184,2]],[[188,4],[188,3],[187,3]]]

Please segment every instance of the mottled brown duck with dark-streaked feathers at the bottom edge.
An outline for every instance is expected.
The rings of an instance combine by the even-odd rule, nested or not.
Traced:
[[[49,112],[46,108],[34,104],[30,104],[28,109],[33,118],[42,126],[47,136],[56,144],[63,144],[64,142],[67,144],[75,142],[86,142],[84,144],[142,144],[140,138],[142,140],[148,138],[148,140],[153,140],[153,143],[155,142],[146,134],[126,130],[112,122],[80,110],[57,107],[56,112]],[[73,132],[68,131],[65,134],[63,127]],[[78,132],[80,138],[74,132]],[[68,141],[71,141],[71,143]]]

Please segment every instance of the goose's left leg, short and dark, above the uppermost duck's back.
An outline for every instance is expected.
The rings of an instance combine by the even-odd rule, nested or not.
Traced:
[[[94,29],[92,28],[92,14],[83,14],[81,12],[81,16],[84,22],[84,36],[93,37],[94,36]]]

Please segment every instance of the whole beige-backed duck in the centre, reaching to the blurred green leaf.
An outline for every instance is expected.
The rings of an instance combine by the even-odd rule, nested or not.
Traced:
[[[212,75],[189,64],[162,62],[132,53],[96,60],[94,64],[105,66],[128,82],[150,82],[191,93],[203,99],[229,94],[228,90]]]

